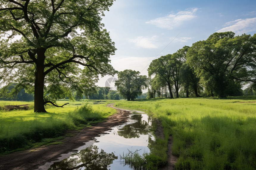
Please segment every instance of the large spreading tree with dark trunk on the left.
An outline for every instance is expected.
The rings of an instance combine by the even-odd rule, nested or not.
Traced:
[[[0,80],[35,92],[35,112],[46,112],[44,88],[90,91],[109,64],[114,42],[101,23],[113,0],[2,0]],[[82,69],[78,66],[82,66]],[[60,106],[61,107],[61,106]]]

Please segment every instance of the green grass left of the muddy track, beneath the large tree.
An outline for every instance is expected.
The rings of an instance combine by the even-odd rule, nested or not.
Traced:
[[[65,102],[58,101],[58,104]],[[104,101],[68,102],[64,108],[47,107],[47,113],[34,113],[33,102],[0,101],[1,108],[9,104],[31,104],[29,110],[0,110],[0,153],[58,144],[56,140],[61,139],[66,130],[79,130],[116,112],[105,107]]]

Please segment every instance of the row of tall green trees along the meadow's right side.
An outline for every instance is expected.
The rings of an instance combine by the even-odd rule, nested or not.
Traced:
[[[256,34],[214,33],[153,60],[148,73],[148,98],[255,95]]]

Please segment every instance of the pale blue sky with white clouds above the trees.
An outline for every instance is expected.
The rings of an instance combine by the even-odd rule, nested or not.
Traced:
[[[256,33],[255,0],[116,0],[104,12],[115,42],[111,65],[148,76],[152,60],[205,40],[215,32]],[[114,78],[100,78],[98,86],[113,86]]]

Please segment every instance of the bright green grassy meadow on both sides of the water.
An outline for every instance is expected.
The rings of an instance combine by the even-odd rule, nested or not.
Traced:
[[[65,102],[58,101],[58,104]],[[26,111],[0,110],[1,154],[59,144],[66,130],[79,130],[115,114],[115,109],[105,107],[107,103],[145,109],[162,122],[165,139],[150,141],[151,152],[137,155],[150,169],[166,164],[170,135],[174,139],[173,154],[179,158],[175,169],[256,169],[255,96],[82,100],[70,102],[64,108],[48,106],[48,113],[34,113],[33,102],[0,101],[1,108],[6,104],[31,104]]]

